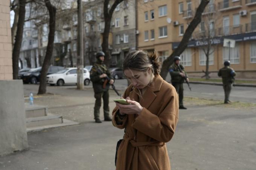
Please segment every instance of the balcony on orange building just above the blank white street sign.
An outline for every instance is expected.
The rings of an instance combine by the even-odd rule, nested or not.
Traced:
[[[218,29],[217,36],[227,36],[227,35],[235,35],[242,33],[242,25],[235,25],[229,27],[221,27]]]

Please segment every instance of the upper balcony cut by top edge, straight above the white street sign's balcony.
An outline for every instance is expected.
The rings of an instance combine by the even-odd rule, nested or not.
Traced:
[[[221,12],[239,8],[242,8],[242,0],[235,2],[233,2],[233,0],[223,0],[222,2],[218,3],[218,9]]]

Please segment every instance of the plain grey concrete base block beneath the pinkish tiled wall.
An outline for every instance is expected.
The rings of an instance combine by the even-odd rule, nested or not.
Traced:
[[[0,155],[27,145],[26,118],[21,80],[0,80]]]

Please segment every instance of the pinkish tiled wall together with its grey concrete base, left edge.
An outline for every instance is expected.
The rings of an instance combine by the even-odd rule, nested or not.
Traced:
[[[23,83],[12,80],[9,0],[0,0],[0,98],[0,155],[26,149]]]

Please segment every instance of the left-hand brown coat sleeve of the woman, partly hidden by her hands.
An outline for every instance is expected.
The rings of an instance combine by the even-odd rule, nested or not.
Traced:
[[[125,90],[125,92],[123,94],[123,98],[126,98],[127,96],[129,96],[130,91],[131,91],[131,86],[127,87],[127,89]],[[123,128],[126,127],[126,122],[127,122],[127,119],[128,119],[128,115],[123,117],[123,119],[120,119],[120,117],[118,117],[118,115],[117,115],[118,111],[119,111],[119,109],[117,107],[115,107],[113,112],[112,112],[112,123],[117,128],[123,129]]]

